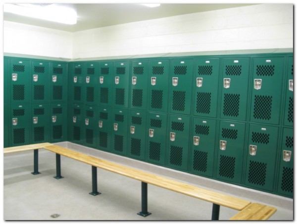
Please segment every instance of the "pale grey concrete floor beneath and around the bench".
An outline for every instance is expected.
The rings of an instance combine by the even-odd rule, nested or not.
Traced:
[[[293,220],[293,199],[185,174],[69,142],[59,145],[252,202],[268,204],[277,208],[270,220]],[[211,203],[150,184],[148,212],[152,214],[146,218],[138,216],[137,213],[141,211],[140,181],[98,169],[98,191],[101,194],[92,196],[89,194],[92,191],[91,166],[62,156],[61,175],[64,178],[54,179],[55,154],[44,149],[39,150],[40,175],[31,174],[33,151],[5,154],[3,162],[3,220],[211,219]],[[220,220],[228,220],[237,212],[221,207]],[[53,218],[55,214],[57,217]]]

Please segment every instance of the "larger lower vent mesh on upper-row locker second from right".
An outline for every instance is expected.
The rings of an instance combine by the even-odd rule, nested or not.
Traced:
[[[270,120],[272,96],[255,95],[253,117],[256,119]]]

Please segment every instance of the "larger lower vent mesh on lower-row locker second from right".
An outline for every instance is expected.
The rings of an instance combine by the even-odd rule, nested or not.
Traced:
[[[266,167],[266,163],[249,161],[248,182],[262,186],[265,185]]]

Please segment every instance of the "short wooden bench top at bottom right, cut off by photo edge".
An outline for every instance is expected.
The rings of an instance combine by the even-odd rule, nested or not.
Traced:
[[[230,220],[268,220],[275,212],[274,207],[251,203]]]

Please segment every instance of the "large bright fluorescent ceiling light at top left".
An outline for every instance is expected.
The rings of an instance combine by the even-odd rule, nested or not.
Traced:
[[[57,23],[73,25],[77,22],[77,13],[74,9],[58,4],[3,4],[4,12],[43,19]]]

